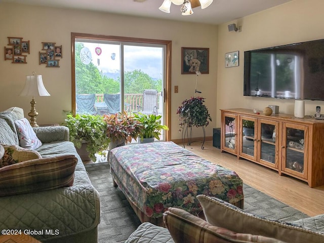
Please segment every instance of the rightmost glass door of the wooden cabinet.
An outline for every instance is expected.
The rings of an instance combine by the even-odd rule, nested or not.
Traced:
[[[300,128],[299,128],[300,127]],[[305,146],[307,146],[307,141],[305,141],[305,133],[307,133],[307,128],[304,126],[290,127],[285,126],[285,146],[286,152],[284,153],[283,160],[286,162],[282,165],[282,171],[289,172],[294,175],[301,176],[307,179],[307,174],[304,173],[304,168],[306,167],[306,153]]]

